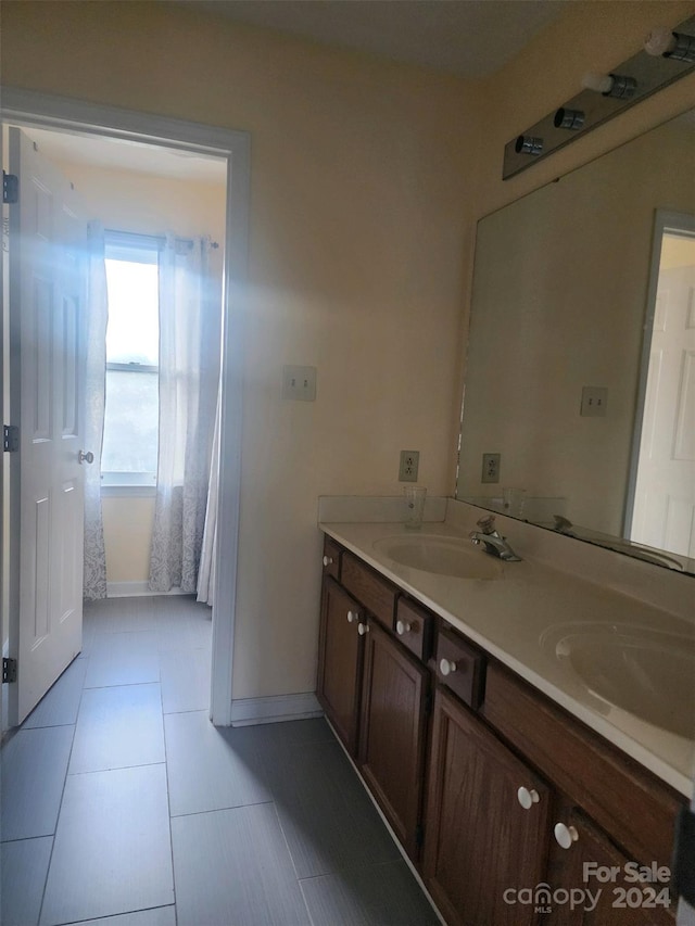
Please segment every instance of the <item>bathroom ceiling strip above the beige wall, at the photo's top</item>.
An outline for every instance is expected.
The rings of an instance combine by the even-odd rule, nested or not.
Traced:
[[[567,0],[181,0],[199,11],[458,77],[514,58]]]

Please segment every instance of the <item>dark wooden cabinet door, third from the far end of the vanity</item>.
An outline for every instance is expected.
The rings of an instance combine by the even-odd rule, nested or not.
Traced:
[[[538,801],[525,810],[520,787]],[[425,819],[425,884],[450,926],[527,926],[519,888],[544,880],[552,794],[453,695],[439,688]]]

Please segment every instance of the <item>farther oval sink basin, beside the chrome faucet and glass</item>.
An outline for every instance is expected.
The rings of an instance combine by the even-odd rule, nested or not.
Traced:
[[[498,579],[502,565],[468,540],[418,534],[376,541],[374,548],[401,566],[455,579]]]

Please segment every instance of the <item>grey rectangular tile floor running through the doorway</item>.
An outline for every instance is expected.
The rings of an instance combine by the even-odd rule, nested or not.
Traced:
[[[210,609],[87,606],[2,750],[3,926],[437,926],[323,720],[216,730]]]

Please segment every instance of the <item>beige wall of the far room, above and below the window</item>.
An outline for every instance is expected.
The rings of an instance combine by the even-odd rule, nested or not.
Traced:
[[[30,129],[26,129],[31,135]],[[67,161],[53,162],[75,185],[87,215],[104,228],[184,237],[210,234],[211,270],[222,275],[225,186],[114,170]],[[150,575],[154,499],[121,495],[103,499],[108,582],[144,582]]]

